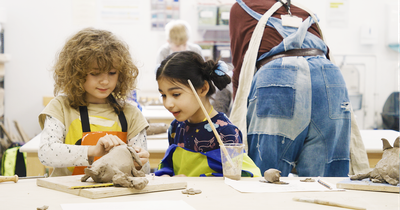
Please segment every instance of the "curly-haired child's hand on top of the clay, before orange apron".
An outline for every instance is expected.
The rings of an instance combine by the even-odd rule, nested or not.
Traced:
[[[113,147],[123,145],[123,142],[118,136],[106,134],[101,137],[96,146],[89,147],[89,157],[99,157],[107,154]]]

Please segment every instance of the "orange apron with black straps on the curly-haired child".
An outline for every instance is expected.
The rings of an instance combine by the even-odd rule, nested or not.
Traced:
[[[121,110],[118,119],[121,123],[122,131],[90,131],[90,123],[89,123],[89,114],[86,106],[80,106],[79,112],[81,116],[81,124],[82,124],[82,139],[77,141],[75,145],[96,145],[99,139],[106,134],[118,136],[123,142],[127,143],[127,130],[128,123],[125,118],[124,112]],[[98,160],[100,157],[95,157],[93,161]],[[75,166],[72,175],[84,174],[84,169],[87,166]]]

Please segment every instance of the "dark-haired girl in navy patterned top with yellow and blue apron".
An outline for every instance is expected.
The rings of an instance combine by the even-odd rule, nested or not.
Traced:
[[[224,62],[204,61],[192,51],[173,53],[161,62],[156,73],[158,90],[165,108],[175,120],[168,129],[170,147],[156,175],[222,176],[218,141],[188,80],[196,89],[221,140],[224,143],[242,143],[240,130],[210,103],[216,88],[222,90],[231,82],[227,69]],[[260,175],[254,163],[253,166],[255,170],[247,171],[246,175]],[[258,173],[254,173],[257,170]]]

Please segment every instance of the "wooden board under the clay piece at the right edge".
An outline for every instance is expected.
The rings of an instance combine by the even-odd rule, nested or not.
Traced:
[[[363,180],[350,180],[350,178],[340,181],[336,184],[337,188],[348,189],[348,190],[368,190],[368,191],[380,191],[380,192],[400,192],[400,186],[393,186],[387,183],[373,183],[367,179]]]

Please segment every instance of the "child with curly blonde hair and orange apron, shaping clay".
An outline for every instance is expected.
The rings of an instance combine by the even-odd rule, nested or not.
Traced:
[[[39,115],[38,156],[52,176],[83,174],[115,146],[133,145],[150,171],[146,128],[140,110],[126,103],[138,68],[128,46],[105,30],[86,28],[72,36],[54,65],[54,99]],[[96,157],[96,159],[95,159]]]

